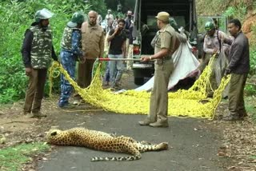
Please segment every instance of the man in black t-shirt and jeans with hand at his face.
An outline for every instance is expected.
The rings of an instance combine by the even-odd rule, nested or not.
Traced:
[[[126,54],[125,21],[118,20],[118,27],[110,30],[107,41],[110,42],[109,58],[123,58]],[[122,78],[124,64],[122,61],[110,61],[110,87],[120,88],[119,81]]]

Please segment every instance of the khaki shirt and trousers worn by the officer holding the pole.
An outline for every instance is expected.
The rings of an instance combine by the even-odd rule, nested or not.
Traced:
[[[164,58],[156,60],[154,63],[154,86],[150,97],[150,113],[147,120],[150,122],[160,121],[166,123],[168,118],[168,82],[170,74],[174,70],[174,63],[171,54],[178,47],[179,41],[173,27],[166,25],[158,31],[155,39],[154,53],[161,49],[169,49],[170,54]]]

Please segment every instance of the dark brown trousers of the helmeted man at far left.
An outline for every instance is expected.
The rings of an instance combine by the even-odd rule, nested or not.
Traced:
[[[24,112],[37,113],[41,109],[43,92],[46,84],[47,69],[32,69],[29,86],[26,89]]]

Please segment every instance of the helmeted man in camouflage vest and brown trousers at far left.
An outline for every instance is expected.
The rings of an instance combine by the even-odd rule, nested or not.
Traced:
[[[29,86],[26,90],[23,109],[26,117],[46,117],[45,114],[40,112],[40,109],[47,68],[50,66],[51,58],[54,61],[58,61],[52,42],[52,30],[49,26],[49,19],[53,15],[49,10],[38,10],[35,14],[35,22],[25,33],[22,45],[22,59],[26,76],[29,77]]]

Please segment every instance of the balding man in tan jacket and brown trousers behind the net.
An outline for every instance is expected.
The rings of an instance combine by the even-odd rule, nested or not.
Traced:
[[[96,58],[101,58],[104,53],[104,31],[96,22],[97,12],[88,13],[89,22],[82,23],[82,52],[84,63],[78,64],[78,85],[86,88],[92,80],[92,71]],[[76,95],[74,104],[78,105],[82,98]]]

